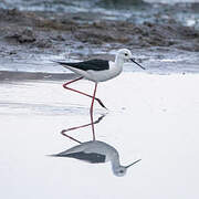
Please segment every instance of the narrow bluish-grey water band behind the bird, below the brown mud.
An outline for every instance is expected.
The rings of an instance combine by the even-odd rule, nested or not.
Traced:
[[[92,48],[92,46],[91,46]],[[88,49],[87,49],[88,50]],[[70,73],[69,70],[63,66],[57,65],[52,62],[52,60],[69,60],[70,62],[81,61],[80,57],[97,56],[101,59],[106,59],[106,51],[102,52],[101,50],[95,51],[92,49],[87,51],[86,46],[83,51],[76,52],[75,49],[72,49],[72,53],[61,53],[59,55],[50,54],[39,54],[31,59],[24,60],[23,57],[15,59],[8,56],[8,59],[0,60],[1,70],[0,70],[0,80],[3,71],[10,72],[30,72],[30,73],[49,73],[53,74],[65,74]],[[154,49],[133,49],[132,50],[134,57],[144,65],[147,70],[146,73],[154,74],[170,74],[170,73],[199,73],[199,52],[188,52],[182,50],[170,50],[166,48],[154,48]],[[88,54],[91,53],[91,54]],[[114,60],[115,50],[108,51],[108,56]],[[69,57],[66,57],[69,54]],[[27,59],[27,57],[25,57]],[[140,69],[132,63],[126,63],[124,65],[125,72],[137,72]],[[48,76],[48,74],[46,74]]]

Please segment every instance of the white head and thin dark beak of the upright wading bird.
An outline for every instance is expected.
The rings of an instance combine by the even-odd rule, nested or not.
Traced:
[[[145,70],[145,67],[143,67],[140,64],[138,64],[135,59],[132,55],[132,52],[128,49],[121,49],[117,52],[116,59],[123,60],[123,62],[134,62],[135,64],[137,64],[139,67],[142,67],[143,70]]]

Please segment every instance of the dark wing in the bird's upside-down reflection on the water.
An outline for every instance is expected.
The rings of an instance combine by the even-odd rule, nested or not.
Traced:
[[[78,151],[78,153],[72,153],[72,154],[56,154],[53,155],[56,157],[70,157],[70,158],[75,158],[75,159],[80,159],[80,160],[84,160],[84,161],[88,161],[91,164],[98,164],[98,163],[105,163],[105,155],[102,154],[96,154],[96,153],[83,153],[83,151]]]

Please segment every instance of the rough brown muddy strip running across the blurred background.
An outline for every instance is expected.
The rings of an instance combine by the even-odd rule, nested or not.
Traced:
[[[96,20],[98,14],[0,9],[1,41],[38,51],[53,48],[56,52],[62,50],[63,44],[81,49],[84,45],[101,46],[106,43],[115,48],[174,46],[199,51],[198,30],[184,27],[174,19],[165,23],[148,21],[137,24],[130,20]]]

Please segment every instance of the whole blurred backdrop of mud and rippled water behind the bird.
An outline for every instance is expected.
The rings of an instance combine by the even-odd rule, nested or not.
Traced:
[[[62,73],[49,60],[113,60],[127,48],[150,72],[198,72],[196,0],[0,2],[1,71]]]

